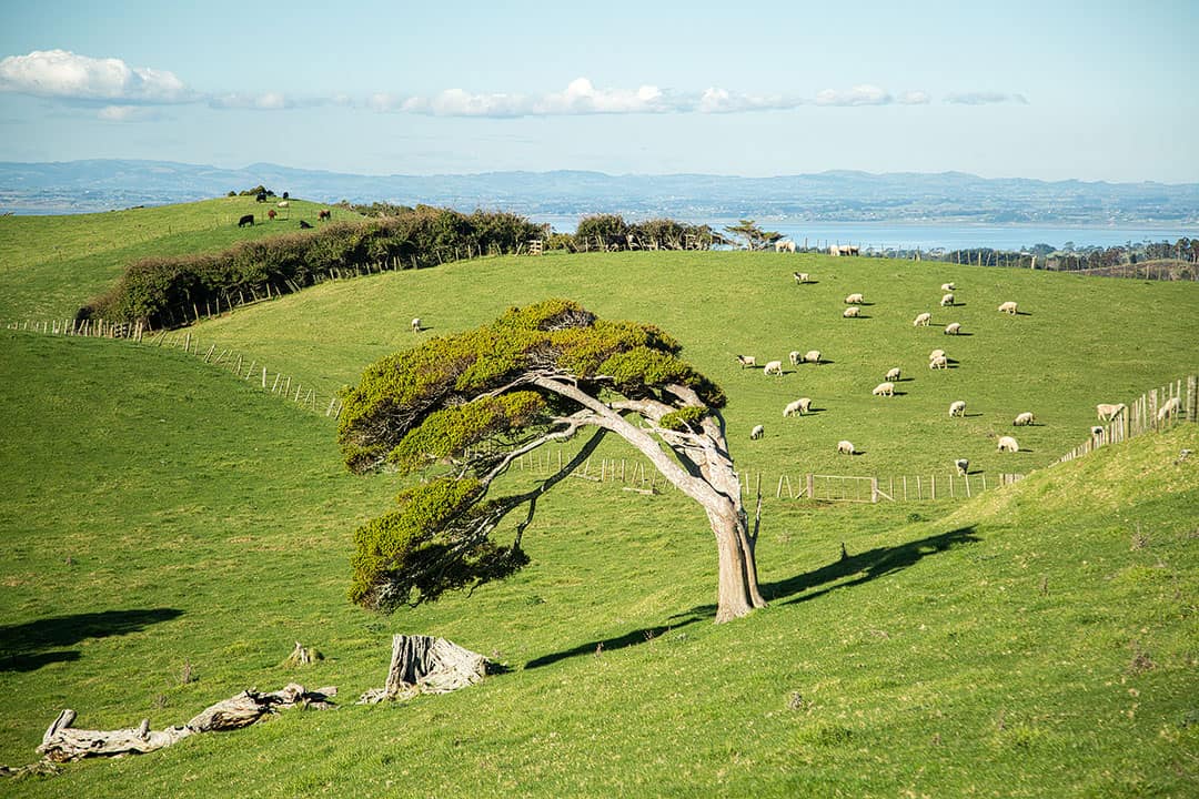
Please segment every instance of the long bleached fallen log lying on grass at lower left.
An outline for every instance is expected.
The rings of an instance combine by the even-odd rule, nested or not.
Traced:
[[[254,689],[205,708],[185,725],[150,730],[150,720],[129,730],[76,730],[76,712],[67,709],[47,727],[37,753],[55,763],[78,761],[84,757],[118,757],[141,755],[164,749],[183,738],[203,732],[240,730],[260,721],[264,716],[287,708],[303,707],[324,710],[333,707],[330,698],[337,689],[320,688],[308,691],[303,685],[291,683],[278,691],[260,694]]]

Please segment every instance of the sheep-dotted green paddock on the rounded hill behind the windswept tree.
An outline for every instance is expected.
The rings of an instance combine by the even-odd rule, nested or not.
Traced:
[[[817,283],[795,285],[794,268]],[[942,282],[956,280],[957,308],[939,308]],[[862,291],[868,319],[840,317],[845,295]],[[327,395],[362,368],[417,339],[412,316],[452,333],[494,319],[507,305],[568,296],[601,315],[652,321],[683,343],[685,356],[730,397],[734,454],[771,489],[815,471],[944,478],[957,458],[972,470],[1028,472],[1086,437],[1095,405],[1129,401],[1146,388],[1199,371],[1199,284],[1084,279],[1068,274],[942,264],[747,253],[622,253],[504,258],[420,272],[325,284],[249,313],[198,326],[204,341],[236,346],[272,370],[294,374]],[[1028,315],[995,309],[1017,299]],[[1169,309],[1163,313],[1162,309]],[[922,310],[938,326],[914,328]],[[970,335],[941,329],[959,321]],[[206,346],[206,345],[205,345]],[[927,368],[934,347],[959,363]],[[736,353],[787,362],[790,350],[819,349],[821,367],[787,367],[782,380],[742,370]],[[870,395],[898,365],[902,395]],[[783,419],[808,395],[819,413]],[[968,402],[950,420],[951,401]],[[1013,430],[1030,410],[1038,425]],[[766,436],[747,441],[764,423]],[[1023,452],[999,455],[995,435],[1014,434]],[[852,441],[863,454],[836,454]],[[627,450],[610,447],[609,454]]]

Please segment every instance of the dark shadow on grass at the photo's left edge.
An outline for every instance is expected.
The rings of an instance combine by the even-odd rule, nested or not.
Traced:
[[[54,616],[0,627],[0,672],[36,671],[52,662],[78,660],[77,649],[62,649],[86,638],[140,632],[151,624],[182,616],[174,607],[101,611]]]

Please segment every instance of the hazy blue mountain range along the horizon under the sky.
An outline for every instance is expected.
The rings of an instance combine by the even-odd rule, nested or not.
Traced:
[[[826,171],[777,177],[349,175],[277,164],[218,169],[156,161],[0,162],[0,213],[80,213],[219,196],[264,184],[320,202],[502,208],[534,217],[622,213],[705,220],[1199,224],[1199,183],[983,178],[963,172]]]

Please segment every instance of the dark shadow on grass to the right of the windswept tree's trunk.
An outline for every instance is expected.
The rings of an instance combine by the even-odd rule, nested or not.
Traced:
[[[791,603],[802,603],[814,599],[837,588],[851,588],[854,586],[860,586],[863,582],[878,580],[881,576],[906,569],[929,555],[944,552],[953,546],[957,546],[958,544],[974,544],[980,540],[974,534],[974,526],[959,527],[958,529],[948,533],[929,535],[928,538],[921,538],[920,540],[899,544],[898,546],[879,546],[873,550],[867,550],[860,555],[850,555],[849,557],[839,558],[813,571],[806,571],[779,582],[763,583],[761,594],[769,603],[777,603],[781,599],[795,597],[795,599],[784,603],[789,605]],[[829,585],[843,577],[854,575],[857,576],[849,582],[842,582],[832,586]],[[821,586],[827,587],[821,588]],[[805,593],[812,588],[820,588],[820,591]],[[796,597],[796,594],[802,595]]]

